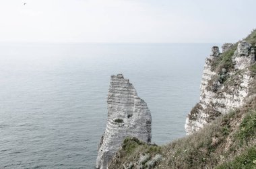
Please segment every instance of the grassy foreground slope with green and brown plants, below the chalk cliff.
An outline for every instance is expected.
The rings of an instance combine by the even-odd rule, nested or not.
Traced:
[[[162,155],[154,168],[255,168],[256,99],[245,106],[222,115],[210,125],[168,145],[148,145],[127,138],[111,168],[133,164],[137,168],[141,155]]]

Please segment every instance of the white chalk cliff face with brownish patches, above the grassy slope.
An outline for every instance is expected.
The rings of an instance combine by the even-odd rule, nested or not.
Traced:
[[[224,44],[222,50],[226,52],[231,47],[231,44]],[[189,112],[185,122],[187,135],[198,131],[220,114],[242,106],[249,94],[249,86],[253,77],[250,76],[249,69],[246,67],[255,62],[251,44],[245,41],[240,42],[232,56],[235,61],[234,68],[240,69],[240,72],[235,72],[235,70],[227,72],[224,68],[218,72],[212,70],[212,63],[220,56],[218,48],[214,46],[212,54],[205,61],[200,86],[200,100]],[[228,79],[223,83],[222,79],[224,78]]]

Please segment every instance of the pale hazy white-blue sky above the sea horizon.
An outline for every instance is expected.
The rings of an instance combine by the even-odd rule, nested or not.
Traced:
[[[2,0],[0,41],[236,42],[256,28],[255,7],[255,0]]]

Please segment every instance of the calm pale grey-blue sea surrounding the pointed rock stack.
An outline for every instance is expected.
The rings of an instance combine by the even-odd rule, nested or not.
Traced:
[[[185,135],[214,44],[0,44],[0,168],[94,168],[110,75],[152,112],[152,142]]]

